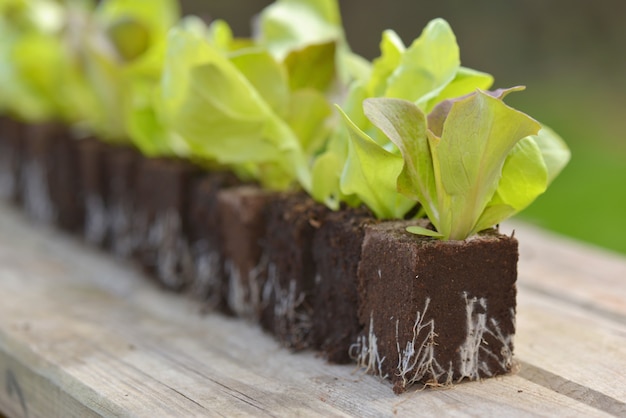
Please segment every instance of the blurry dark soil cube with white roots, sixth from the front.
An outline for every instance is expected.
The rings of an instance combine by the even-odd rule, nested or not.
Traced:
[[[147,273],[177,291],[191,277],[185,222],[191,178],[197,170],[187,161],[143,158],[137,177],[137,259]]]

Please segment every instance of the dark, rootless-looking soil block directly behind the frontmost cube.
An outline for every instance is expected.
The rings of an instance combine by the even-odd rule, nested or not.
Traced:
[[[349,363],[350,345],[362,327],[358,318],[357,268],[364,225],[376,222],[367,209],[329,213],[313,240],[317,275],[313,296],[313,345],[332,363]]]

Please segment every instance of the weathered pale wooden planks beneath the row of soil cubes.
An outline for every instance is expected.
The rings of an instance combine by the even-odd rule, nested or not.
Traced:
[[[396,396],[353,366],[291,354],[251,324],[202,315],[131,266],[0,205],[0,411],[626,416],[626,259],[515,228],[518,371]]]

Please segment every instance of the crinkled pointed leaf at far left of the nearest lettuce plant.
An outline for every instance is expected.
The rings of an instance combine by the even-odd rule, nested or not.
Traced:
[[[402,218],[415,205],[397,192],[402,157],[386,151],[340,112],[350,131],[348,159],[341,177],[342,192],[357,195],[379,218]]]

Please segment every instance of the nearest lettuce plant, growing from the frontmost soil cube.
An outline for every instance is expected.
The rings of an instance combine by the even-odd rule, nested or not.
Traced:
[[[556,134],[504,104],[507,94],[521,89],[477,90],[440,102],[428,115],[407,100],[365,100],[365,115],[400,155],[346,116],[354,151],[342,186],[374,202],[379,217],[394,215],[389,201],[398,192],[418,202],[435,231],[407,228],[416,234],[463,240],[500,223],[543,193],[570,155]],[[371,174],[360,174],[366,170],[388,174],[384,189]]]

